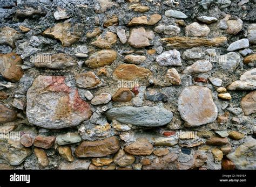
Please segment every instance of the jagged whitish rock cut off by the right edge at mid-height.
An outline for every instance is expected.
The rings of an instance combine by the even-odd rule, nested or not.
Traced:
[[[246,71],[239,78],[239,81],[232,82],[228,90],[254,90],[256,89],[256,68]]]

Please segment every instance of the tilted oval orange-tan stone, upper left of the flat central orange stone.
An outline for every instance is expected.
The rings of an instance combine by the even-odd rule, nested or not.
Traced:
[[[102,50],[93,53],[85,64],[89,68],[98,68],[105,65],[110,65],[114,60],[117,59],[117,52],[113,50]]]

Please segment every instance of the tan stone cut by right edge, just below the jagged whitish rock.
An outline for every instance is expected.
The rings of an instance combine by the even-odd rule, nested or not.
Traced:
[[[242,111],[245,115],[250,115],[256,112],[256,91],[248,93],[241,100]]]

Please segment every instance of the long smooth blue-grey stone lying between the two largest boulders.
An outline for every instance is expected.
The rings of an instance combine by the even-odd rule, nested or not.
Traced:
[[[105,116],[109,119],[116,119],[124,124],[158,127],[169,123],[172,120],[173,114],[171,111],[158,106],[123,106],[108,110]]]

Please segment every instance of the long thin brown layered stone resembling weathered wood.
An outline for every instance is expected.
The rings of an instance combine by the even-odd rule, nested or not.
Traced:
[[[226,37],[219,38],[190,38],[190,37],[173,37],[162,38],[161,41],[167,43],[167,46],[176,48],[192,48],[200,46],[220,46],[227,41]]]

